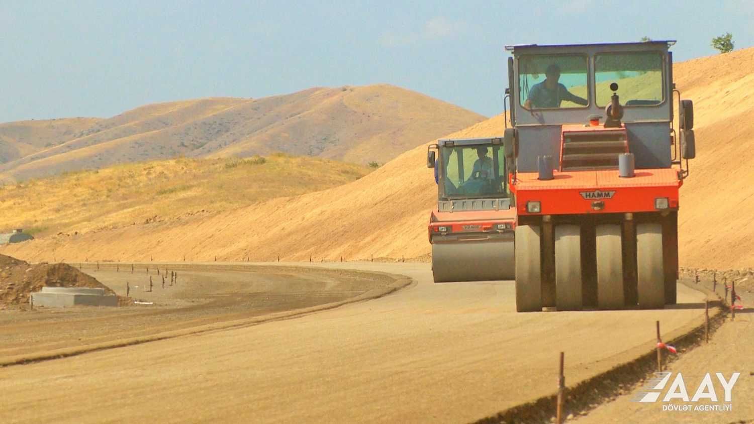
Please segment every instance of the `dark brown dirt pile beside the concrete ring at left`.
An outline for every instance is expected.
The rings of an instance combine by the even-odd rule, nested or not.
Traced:
[[[29,303],[29,295],[42,287],[104,288],[106,285],[68,264],[29,264],[10,256],[0,255],[0,306]]]

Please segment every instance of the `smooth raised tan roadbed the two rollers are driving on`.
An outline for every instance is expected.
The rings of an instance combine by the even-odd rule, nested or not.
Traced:
[[[309,265],[309,264],[302,264]],[[429,264],[326,264],[415,284],[295,319],[0,369],[2,422],[467,422],[551,394],[698,325],[659,311],[516,313],[513,282],[432,282]]]

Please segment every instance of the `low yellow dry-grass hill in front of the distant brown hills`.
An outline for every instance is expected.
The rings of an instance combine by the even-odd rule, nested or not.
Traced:
[[[309,157],[158,160],[0,188],[0,221],[35,236],[209,216],[342,185],[369,168]]]

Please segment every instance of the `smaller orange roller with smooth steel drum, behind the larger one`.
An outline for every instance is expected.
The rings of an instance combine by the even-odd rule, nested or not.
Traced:
[[[510,280],[516,210],[501,138],[430,145],[437,209],[430,215],[434,282]]]

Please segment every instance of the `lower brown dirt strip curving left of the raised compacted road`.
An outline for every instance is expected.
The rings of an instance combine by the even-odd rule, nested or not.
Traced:
[[[78,267],[78,265],[77,265]],[[172,267],[86,264],[83,271],[116,294],[147,303],[130,307],[0,310],[0,366],[56,353],[222,328],[253,317],[382,294],[394,282],[379,273],[302,267],[204,264]],[[173,283],[172,273],[176,272]],[[162,277],[167,276],[163,285]],[[152,282],[151,291],[150,281]]]

